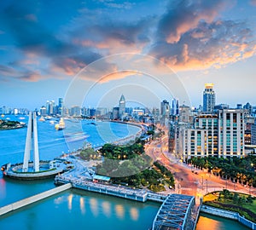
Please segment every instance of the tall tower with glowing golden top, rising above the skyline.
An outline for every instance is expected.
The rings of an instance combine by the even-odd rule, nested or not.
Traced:
[[[203,112],[213,112],[215,106],[215,92],[213,83],[206,83],[203,93]]]

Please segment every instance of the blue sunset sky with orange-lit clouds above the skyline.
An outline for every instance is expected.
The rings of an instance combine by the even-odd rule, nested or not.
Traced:
[[[0,106],[256,106],[256,1],[0,2]]]

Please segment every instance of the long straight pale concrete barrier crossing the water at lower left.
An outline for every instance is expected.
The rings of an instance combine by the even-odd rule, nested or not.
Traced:
[[[52,195],[55,195],[56,193],[61,193],[71,187],[72,187],[72,185],[70,183],[68,183],[68,184],[62,185],[60,187],[55,187],[53,189],[50,189],[44,193],[39,193],[30,198],[24,198],[24,199],[21,199],[20,201],[13,203],[13,204],[8,204],[6,206],[3,206],[2,208],[0,208],[0,216],[4,215],[6,213],[9,213],[10,211],[18,210],[28,204],[38,202],[41,199],[48,198]]]

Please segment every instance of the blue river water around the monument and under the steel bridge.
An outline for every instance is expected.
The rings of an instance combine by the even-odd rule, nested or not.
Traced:
[[[11,120],[20,117],[9,116]],[[27,121],[27,118],[20,121]],[[70,121],[66,121],[68,124]],[[126,135],[135,135],[139,128],[118,123],[73,122],[69,128],[81,129],[89,137],[86,141],[93,146],[118,140]],[[111,133],[111,135],[107,135]],[[26,129],[0,131],[0,165],[19,163],[23,160]],[[63,152],[73,152],[83,141],[67,143],[62,130],[55,130],[49,121],[38,122],[38,144],[40,159],[53,159]],[[0,175],[0,206],[13,203],[41,193],[55,185],[52,180],[15,181]],[[21,210],[0,217],[0,227],[5,229],[145,229],[152,226],[160,204],[145,204],[114,198],[102,194],[72,189],[56,194]],[[201,214],[197,230],[202,229],[247,229],[236,221]]]

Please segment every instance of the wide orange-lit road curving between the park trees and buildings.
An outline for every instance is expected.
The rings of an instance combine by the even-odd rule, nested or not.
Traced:
[[[145,152],[154,161],[158,160],[172,172],[176,180],[175,193],[201,198],[206,193],[227,188],[230,191],[256,195],[256,189],[254,187],[244,187],[239,183],[223,180],[220,177],[212,175],[207,170],[198,170],[188,164],[184,164],[181,160],[175,158],[174,154],[168,152],[167,141],[168,136],[163,135],[159,140],[148,143],[145,146]],[[166,193],[171,192],[173,193],[173,191],[166,191]]]

